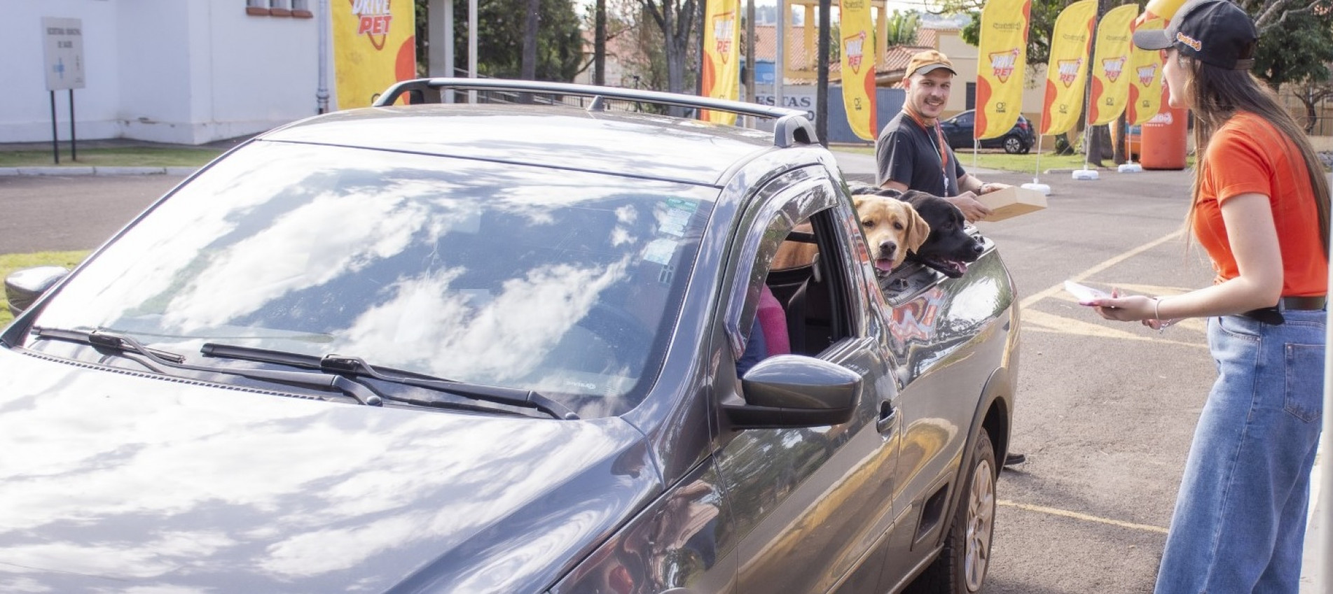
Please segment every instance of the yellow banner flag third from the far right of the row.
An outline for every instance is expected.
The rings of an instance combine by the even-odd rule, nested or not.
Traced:
[[[1041,133],[1062,135],[1082,115],[1082,91],[1088,83],[1088,49],[1097,0],[1078,0],[1060,12],[1050,32],[1046,64],[1046,100],[1041,107]]]

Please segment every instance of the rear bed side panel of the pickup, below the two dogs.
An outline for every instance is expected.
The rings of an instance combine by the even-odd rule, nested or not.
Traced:
[[[982,362],[1005,358],[1014,293],[994,244],[984,245],[962,278],[908,265],[880,285],[902,422],[885,587],[938,546],[958,497],[964,446],[996,370]]]

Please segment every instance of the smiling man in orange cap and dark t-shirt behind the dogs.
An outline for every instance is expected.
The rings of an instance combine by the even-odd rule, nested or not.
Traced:
[[[889,120],[874,143],[878,185],[896,190],[916,189],[942,196],[962,210],[969,222],[990,214],[977,194],[1008,188],[985,184],[962,169],[940,131],[940,113],[949,103],[953,63],[928,49],[912,56],[902,85],[906,100],[902,112]]]

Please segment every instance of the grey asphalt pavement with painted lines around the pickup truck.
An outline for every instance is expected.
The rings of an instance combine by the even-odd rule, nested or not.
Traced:
[[[841,157],[840,157],[841,158]],[[864,165],[849,157],[848,165]],[[861,172],[864,174],[864,172]],[[988,173],[1025,182],[1030,174]],[[0,178],[0,253],[89,249],[179,178]],[[1209,282],[1177,232],[1185,172],[1044,174],[1049,208],[982,222],[1022,296],[1013,447],[988,594],[1152,591],[1176,486],[1213,378],[1202,324],[1157,333],[1072,301],[1066,278],[1169,294]],[[1309,590],[1313,591],[1313,590]]]

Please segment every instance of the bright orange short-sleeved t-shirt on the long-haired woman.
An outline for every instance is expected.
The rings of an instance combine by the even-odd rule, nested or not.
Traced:
[[[1282,296],[1321,296],[1328,290],[1328,257],[1310,177],[1290,139],[1268,120],[1238,112],[1213,133],[1198,176],[1194,236],[1213,258],[1216,282],[1240,276],[1221,204],[1233,196],[1258,193],[1268,196],[1273,208],[1282,252]]]

